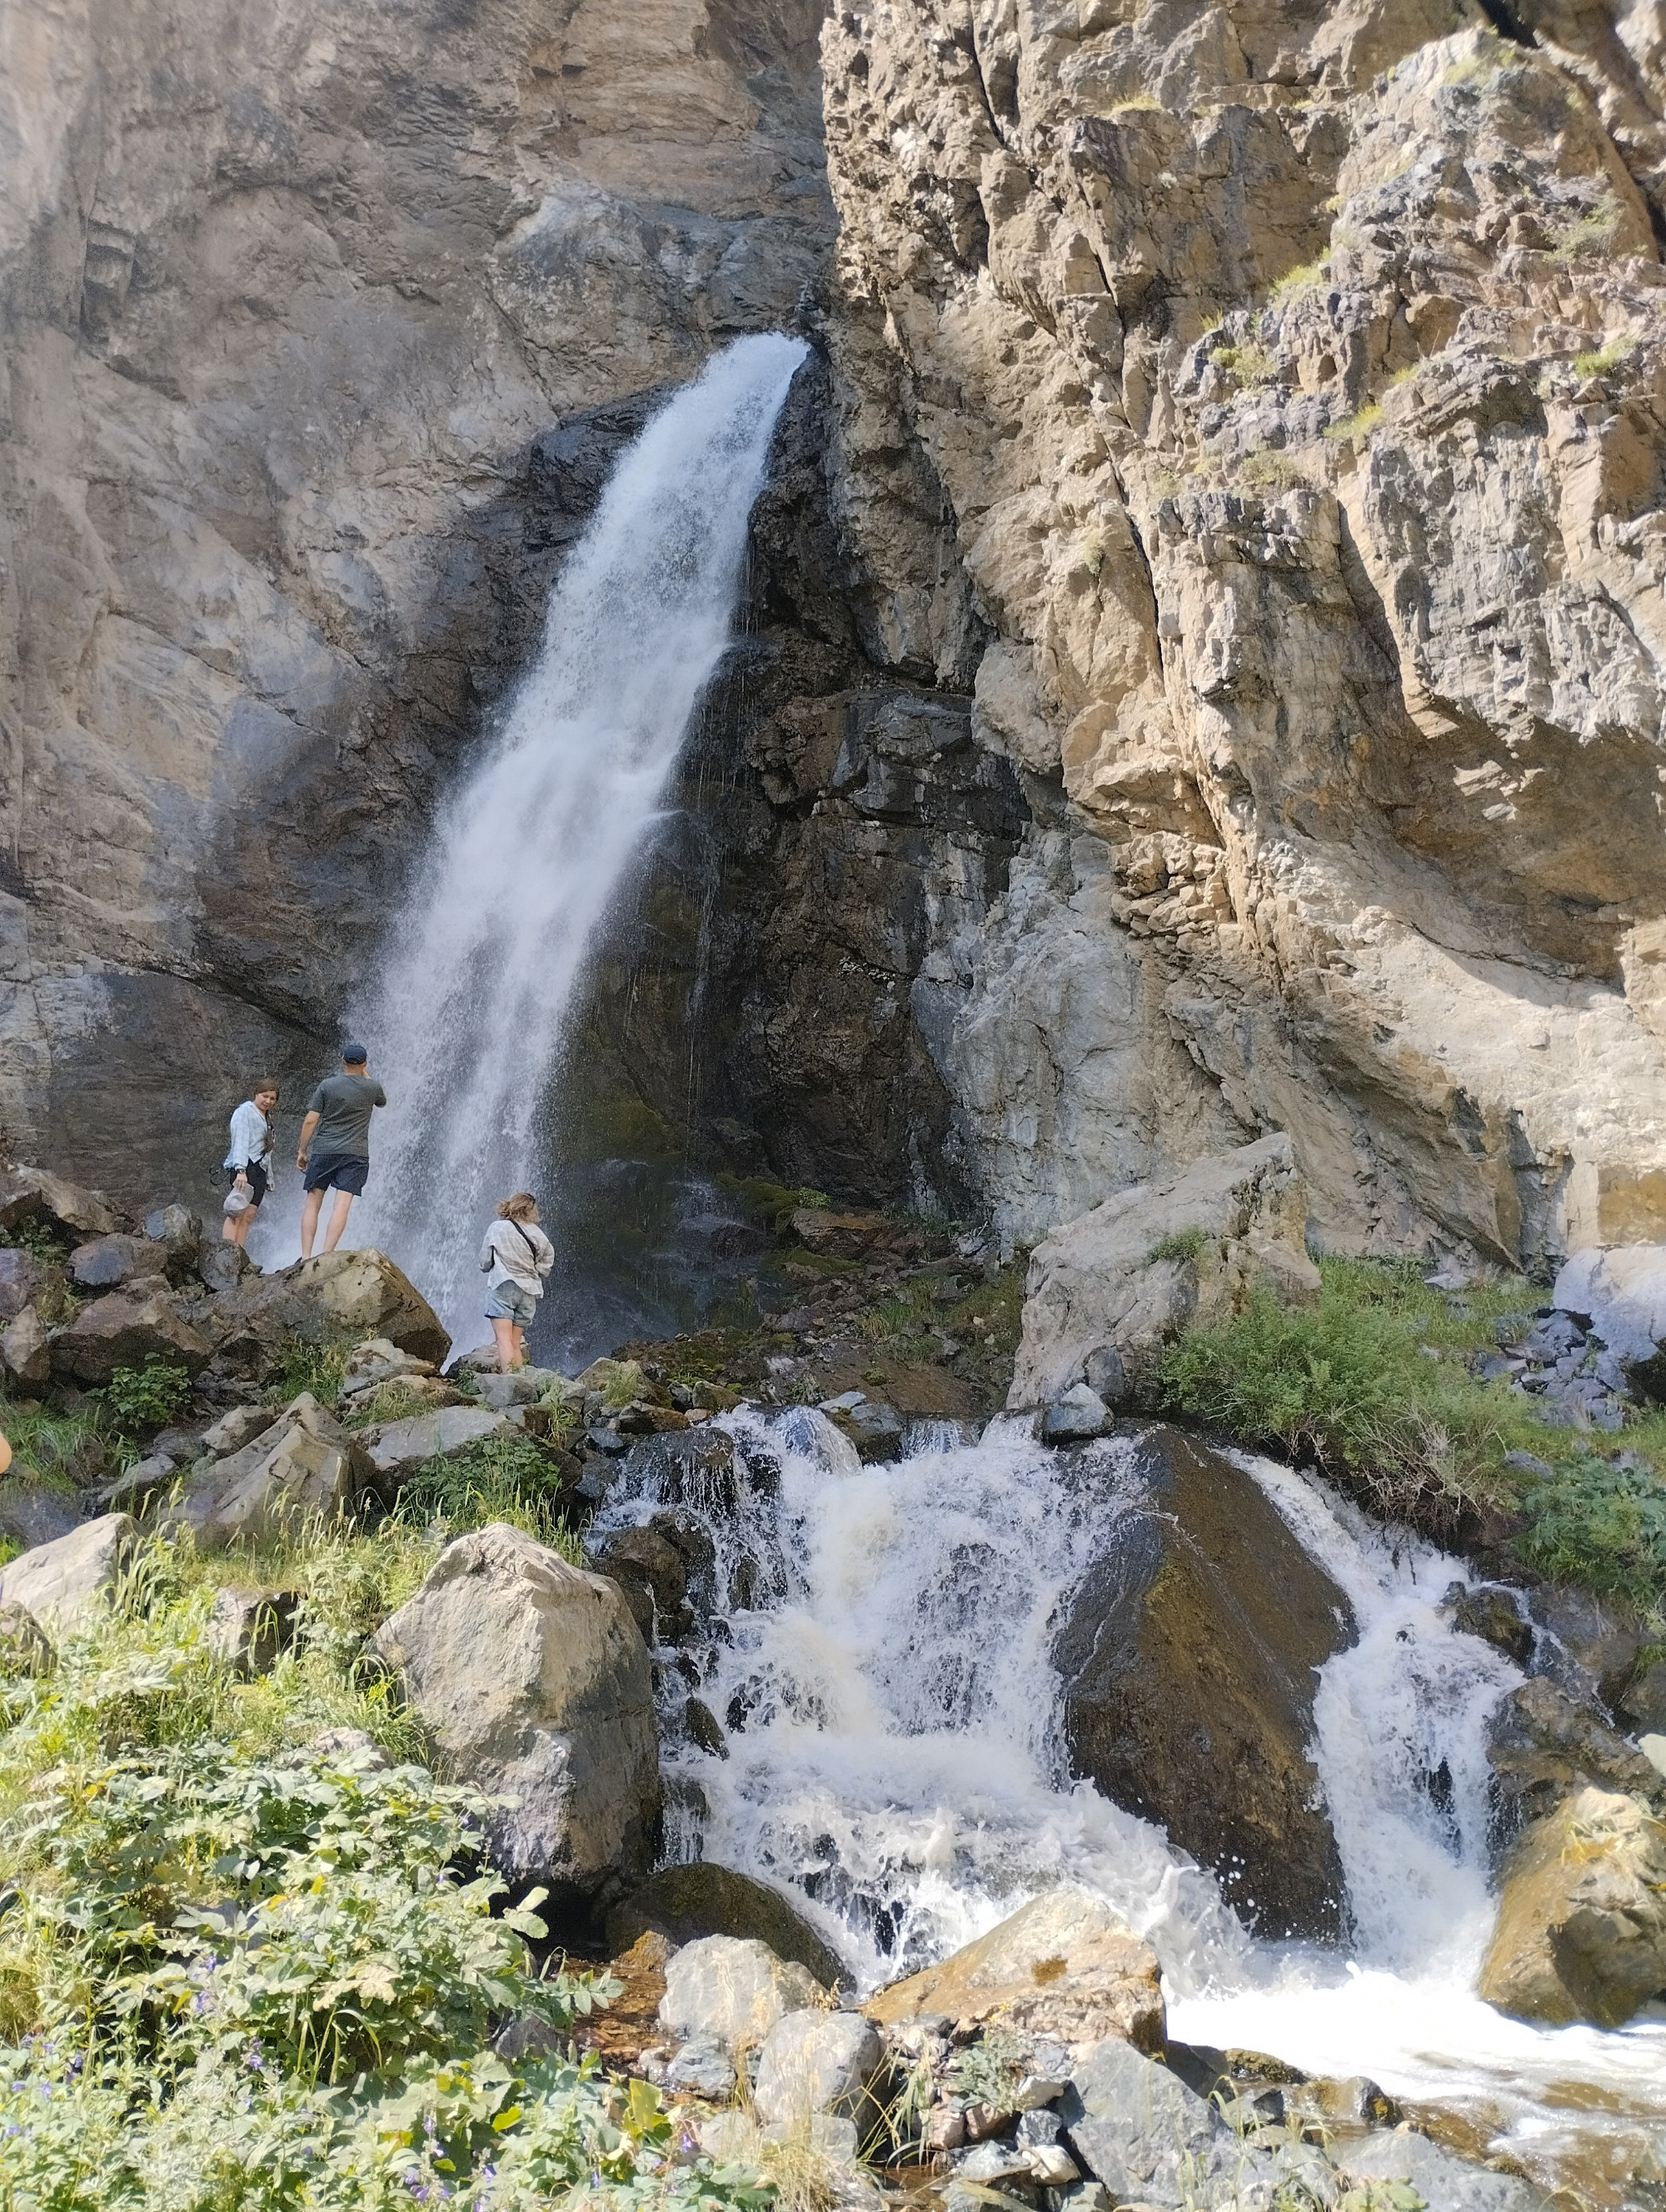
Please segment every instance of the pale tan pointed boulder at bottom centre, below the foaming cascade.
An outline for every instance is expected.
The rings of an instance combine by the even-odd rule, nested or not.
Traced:
[[[1115,2035],[1159,2051],[1164,2042],[1157,1953],[1102,1898],[1069,1885],[1044,1889],[940,1966],[881,1989],[863,2011],[881,2026],[998,2013],[1018,2035],[1060,2044]]]

